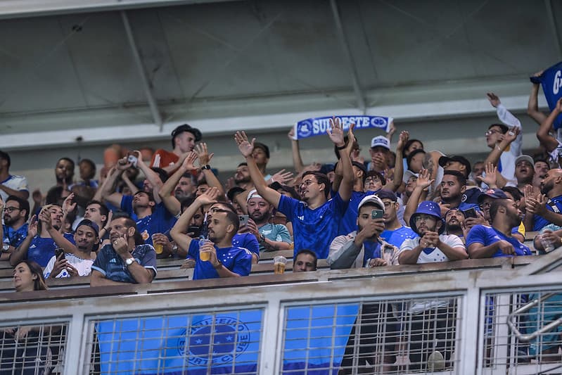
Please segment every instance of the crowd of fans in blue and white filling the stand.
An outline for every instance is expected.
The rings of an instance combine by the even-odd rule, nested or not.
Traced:
[[[243,162],[221,182],[204,134],[181,125],[171,151],[106,149],[99,179],[92,160],[79,160],[77,179],[75,161],[60,158],[56,185],[32,192],[30,205],[25,177],[10,174],[0,151],[0,260],[27,291],[41,281],[37,267],[46,279],[90,275],[91,286],[150,283],[159,258],[212,279],[248,276],[276,250],[293,249],[293,272],[317,260],[346,269],[548,253],[562,244],[562,143],[552,129],[562,100],[545,115],[538,91],[533,84],[528,115],[541,151],[522,154],[520,120],[489,93],[499,121],[483,125],[490,153],[476,163],[404,131],[392,150],[394,126],[364,160],[353,126],[333,117],[325,137],[337,163],[303,165],[291,129],[295,172],[270,171],[269,147],[240,131]],[[540,233],[532,249],[529,231]]]

